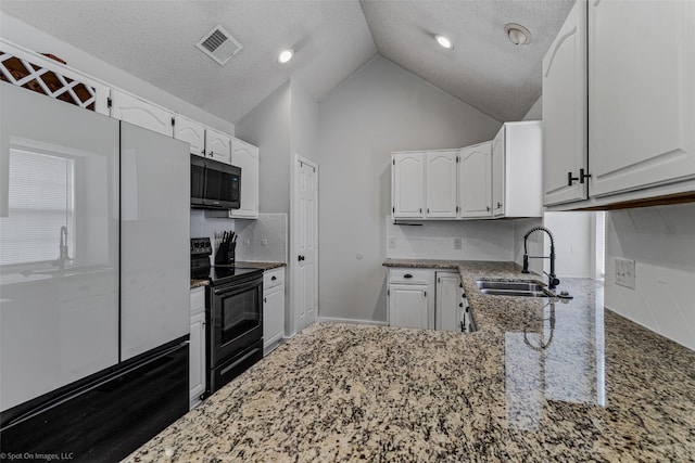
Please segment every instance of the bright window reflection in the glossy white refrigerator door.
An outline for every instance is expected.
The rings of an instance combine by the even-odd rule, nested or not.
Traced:
[[[45,262],[60,256],[66,227],[70,257],[75,246],[74,160],[10,150],[8,217],[0,218],[0,265]]]

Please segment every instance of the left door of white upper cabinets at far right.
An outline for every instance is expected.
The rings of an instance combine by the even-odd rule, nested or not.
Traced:
[[[574,3],[543,59],[543,203],[586,200],[585,1]]]

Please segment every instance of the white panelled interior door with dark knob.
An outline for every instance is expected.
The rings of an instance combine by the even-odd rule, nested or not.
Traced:
[[[299,333],[318,311],[318,166],[294,162],[294,326]]]

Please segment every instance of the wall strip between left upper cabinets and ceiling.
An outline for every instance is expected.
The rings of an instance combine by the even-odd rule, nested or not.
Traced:
[[[235,125],[230,121],[210,114],[7,13],[0,14],[0,37],[28,50],[51,53],[67,62],[67,65],[75,70],[96,77],[105,83],[118,87],[225,133],[235,134]]]

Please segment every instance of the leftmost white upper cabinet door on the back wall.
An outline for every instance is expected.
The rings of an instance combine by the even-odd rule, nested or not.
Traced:
[[[393,218],[421,219],[425,203],[425,154],[394,153]]]

